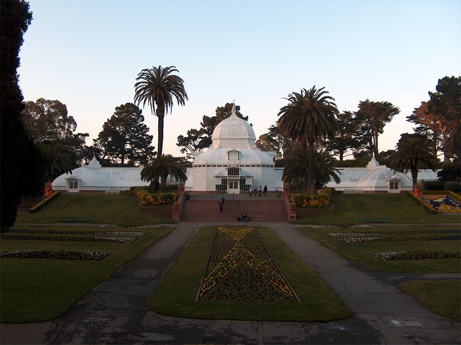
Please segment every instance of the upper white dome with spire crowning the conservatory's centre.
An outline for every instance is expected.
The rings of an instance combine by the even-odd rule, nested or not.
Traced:
[[[212,135],[212,148],[218,147],[256,147],[255,131],[248,122],[239,118],[232,105],[232,114],[215,127]]]

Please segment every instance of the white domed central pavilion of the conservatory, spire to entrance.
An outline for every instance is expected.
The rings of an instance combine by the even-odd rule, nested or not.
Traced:
[[[192,153],[186,191],[240,193],[250,185],[281,190],[274,174],[276,153],[256,147],[255,131],[237,116],[235,104],[231,116],[215,127],[212,141],[207,150]]]

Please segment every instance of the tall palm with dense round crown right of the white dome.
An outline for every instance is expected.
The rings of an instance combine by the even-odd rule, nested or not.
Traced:
[[[312,87],[302,89],[300,93],[293,92],[286,100],[289,103],[280,109],[278,125],[281,132],[288,135],[301,145],[302,149],[309,149],[309,166],[307,173],[307,190],[315,193],[314,184],[314,154],[315,142],[318,139],[333,139],[338,130],[336,116],[338,109],[333,103],[334,98],[327,96],[327,91]]]

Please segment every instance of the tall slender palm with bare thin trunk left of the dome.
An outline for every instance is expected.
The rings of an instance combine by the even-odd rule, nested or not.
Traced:
[[[184,105],[188,99],[184,90],[184,81],[173,72],[179,72],[175,66],[152,67],[144,69],[139,74],[135,83],[134,101],[145,106],[148,103],[152,114],[158,117],[158,145],[157,157],[162,156],[163,150],[163,118],[172,110],[173,98],[176,98],[178,105]]]

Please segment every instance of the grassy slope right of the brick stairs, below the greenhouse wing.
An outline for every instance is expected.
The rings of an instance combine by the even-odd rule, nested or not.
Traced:
[[[391,223],[420,223],[422,207],[406,193],[333,194],[333,210],[319,217],[303,218],[294,224],[354,224],[357,218],[389,218]],[[459,223],[459,214],[431,214],[424,211],[428,223]]]

